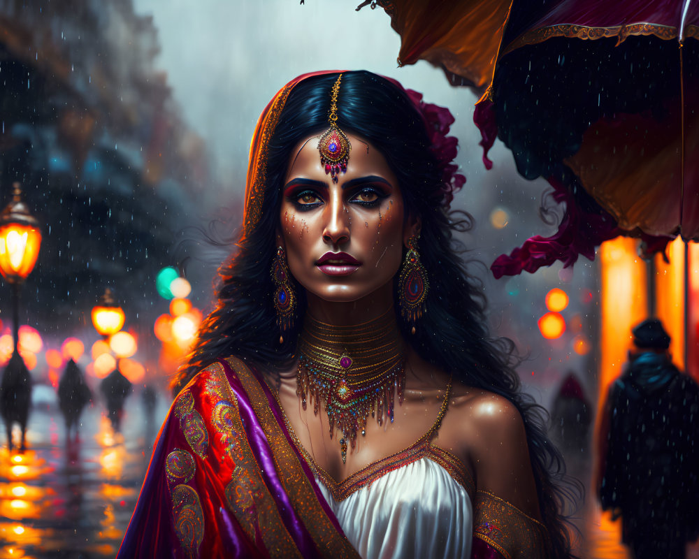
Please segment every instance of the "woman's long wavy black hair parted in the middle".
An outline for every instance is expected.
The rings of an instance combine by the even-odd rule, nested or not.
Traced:
[[[240,235],[236,252],[219,268],[217,305],[203,321],[189,361],[173,382],[175,393],[220,357],[236,355],[262,368],[287,368],[293,363],[305,296],[296,286],[298,316],[280,344],[270,272],[281,187],[291,150],[303,138],[327,129],[331,88],[337,78],[337,73],[313,76],[291,90],[268,146],[261,217],[252,231]],[[560,513],[566,498],[556,482],[563,474],[563,460],[545,434],[545,411],[521,392],[512,344],[489,335],[482,289],[468,276],[456,251],[454,232],[463,230],[464,219],[448,211],[448,189],[424,120],[403,89],[379,75],[357,71],[343,75],[337,124],[380,150],[398,179],[406,215],[421,219],[418,249],[431,289],[415,335],[398,317],[403,337],[435,367],[469,386],[504,396],[519,409],[542,520],[554,556],[568,557],[570,538]]]

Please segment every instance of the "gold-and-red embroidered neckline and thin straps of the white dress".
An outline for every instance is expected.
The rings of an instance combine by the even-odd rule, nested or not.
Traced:
[[[349,476],[340,482],[336,481],[331,474],[320,467],[315,462],[311,454],[305,449],[305,447],[303,447],[303,444],[301,444],[301,441],[298,440],[298,437],[296,436],[294,428],[291,426],[291,422],[289,421],[286,412],[284,412],[284,408],[279,400],[278,392],[275,390],[271,390],[271,392],[273,393],[275,400],[277,400],[277,405],[281,411],[282,419],[284,419],[284,424],[287,426],[287,431],[289,432],[291,441],[294,442],[294,445],[301,453],[301,456],[303,456],[306,463],[308,463],[312,472],[316,474],[320,481],[322,481],[322,484],[328,488],[333,495],[333,498],[339,502],[345,500],[355,491],[359,491],[359,489],[373,484],[374,481],[380,479],[380,477],[383,477],[385,474],[393,470],[397,470],[399,467],[408,465],[421,458],[428,458],[428,460],[431,460],[442,467],[447,471],[452,479],[456,481],[456,483],[466,488],[468,494],[473,496],[475,493],[475,484],[473,484],[473,479],[471,478],[470,473],[468,472],[468,469],[463,461],[453,453],[431,444],[431,440],[433,439],[435,433],[437,433],[439,430],[442,424],[442,419],[444,419],[447,412],[451,389],[452,377],[449,377],[449,382],[447,383],[447,389],[445,390],[444,399],[442,400],[442,405],[440,407],[440,412],[437,419],[431,428],[417,441],[402,451],[398,451],[389,456],[384,456],[384,458],[374,460],[368,465],[361,467],[356,472],[349,474]]]

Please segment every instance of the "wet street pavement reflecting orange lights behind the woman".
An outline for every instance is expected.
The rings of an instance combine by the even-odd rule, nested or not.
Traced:
[[[82,414],[77,442],[66,442],[54,402],[35,405],[23,454],[0,451],[0,559],[106,559],[119,548],[169,400],[159,395],[152,415],[140,393],[127,399],[122,433],[113,433],[99,402]],[[589,462],[568,457],[568,468],[589,486]],[[602,514],[586,488],[575,524],[583,559],[627,559],[619,522]],[[687,558],[699,559],[699,546]]]

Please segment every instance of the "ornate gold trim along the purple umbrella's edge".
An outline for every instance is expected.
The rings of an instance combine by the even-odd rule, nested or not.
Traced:
[[[694,27],[694,26],[690,26]],[[689,29],[688,29],[689,32]],[[512,43],[507,45],[507,48],[500,52],[498,58],[502,58],[513,50],[527,46],[543,43],[553,37],[578,38],[583,40],[594,41],[596,39],[617,37],[619,41],[617,45],[624,42],[627,37],[632,35],[654,35],[663,41],[677,38],[677,27],[669,25],[658,25],[654,23],[634,23],[630,25],[615,25],[614,27],[586,27],[584,25],[575,24],[560,24],[550,27],[540,27],[532,29],[520,35]],[[689,36],[689,35],[687,35]]]

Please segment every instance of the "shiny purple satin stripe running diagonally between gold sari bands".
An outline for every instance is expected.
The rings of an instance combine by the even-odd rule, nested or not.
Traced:
[[[308,530],[305,528],[305,525],[303,525],[301,519],[298,518],[296,511],[294,511],[294,507],[289,500],[289,495],[287,495],[284,490],[282,481],[277,473],[270,444],[264,433],[264,429],[259,423],[257,415],[252,409],[250,398],[243,388],[243,385],[240,383],[238,375],[236,375],[236,372],[231,368],[229,363],[226,363],[224,360],[219,360],[219,363],[223,365],[231,389],[238,400],[238,410],[240,412],[240,419],[243,421],[243,427],[245,428],[247,442],[250,444],[250,449],[252,450],[255,460],[257,460],[261,477],[264,479],[270,494],[278,505],[282,521],[284,525],[286,525],[289,535],[294,539],[301,554],[304,557],[315,556],[315,544]]]

